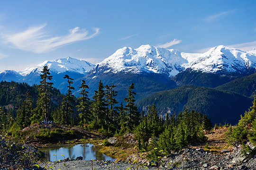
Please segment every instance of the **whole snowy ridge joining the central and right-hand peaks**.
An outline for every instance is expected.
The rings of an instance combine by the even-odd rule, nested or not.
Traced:
[[[156,73],[175,76],[191,68],[206,73],[247,73],[256,68],[256,50],[242,51],[219,45],[205,53],[185,53],[151,45],[124,47],[104,59],[91,73]]]

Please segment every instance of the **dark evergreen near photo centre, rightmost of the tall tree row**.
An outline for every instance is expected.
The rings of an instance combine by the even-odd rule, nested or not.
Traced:
[[[139,112],[137,111],[137,106],[134,104],[136,93],[133,92],[134,84],[132,83],[128,89],[128,97],[124,99],[127,102],[125,108],[128,111],[128,127],[132,129],[133,125],[139,124]]]

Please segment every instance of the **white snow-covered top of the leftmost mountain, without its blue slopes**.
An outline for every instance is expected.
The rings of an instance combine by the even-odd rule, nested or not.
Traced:
[[[93,68],[95,65],[82,60],[74,59],[71,57],[66,57],[64,59],[55,59],[54,61],[45,61],[41,64],[38,64],[35,68],[26,68],[23,71],[20,71],[21,76],[27,76],[29,74],[40,74],[44,66],[48,66],[51,73],[64,73],[64,72],[74,72],[79,74],[86,74]]]

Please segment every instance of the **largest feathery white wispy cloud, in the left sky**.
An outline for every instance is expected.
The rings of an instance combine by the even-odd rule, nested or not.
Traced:
[[[75,27],[66,35],[51,36],[45,31],[45,27],[46,24],[28,27],[27,30],[20,33],[2,35],[2,39],[5,44],[10,44],[13,48],[43,53],[73,42],[93,38],[100,33],[99,28],[93,28],[94,33],[88,35],[89,32],[86,29]]]

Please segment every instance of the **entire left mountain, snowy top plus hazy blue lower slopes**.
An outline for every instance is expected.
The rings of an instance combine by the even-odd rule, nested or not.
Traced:
[[[64,75],[67,74],[73,79],[79,79],[88,74],[95,65],[82,60],[66,57],[64,59],[55,59],[54,61],[45,61],[38,64],[35,68],[26,68],[23,71],[16,72],[5,70],[0,72],[0,81],[26,82],[29,85],[40,83],[40,74],[44,66],[48,66],[50,74],[53,76],[54,87],[65,93],[66,85]]]

